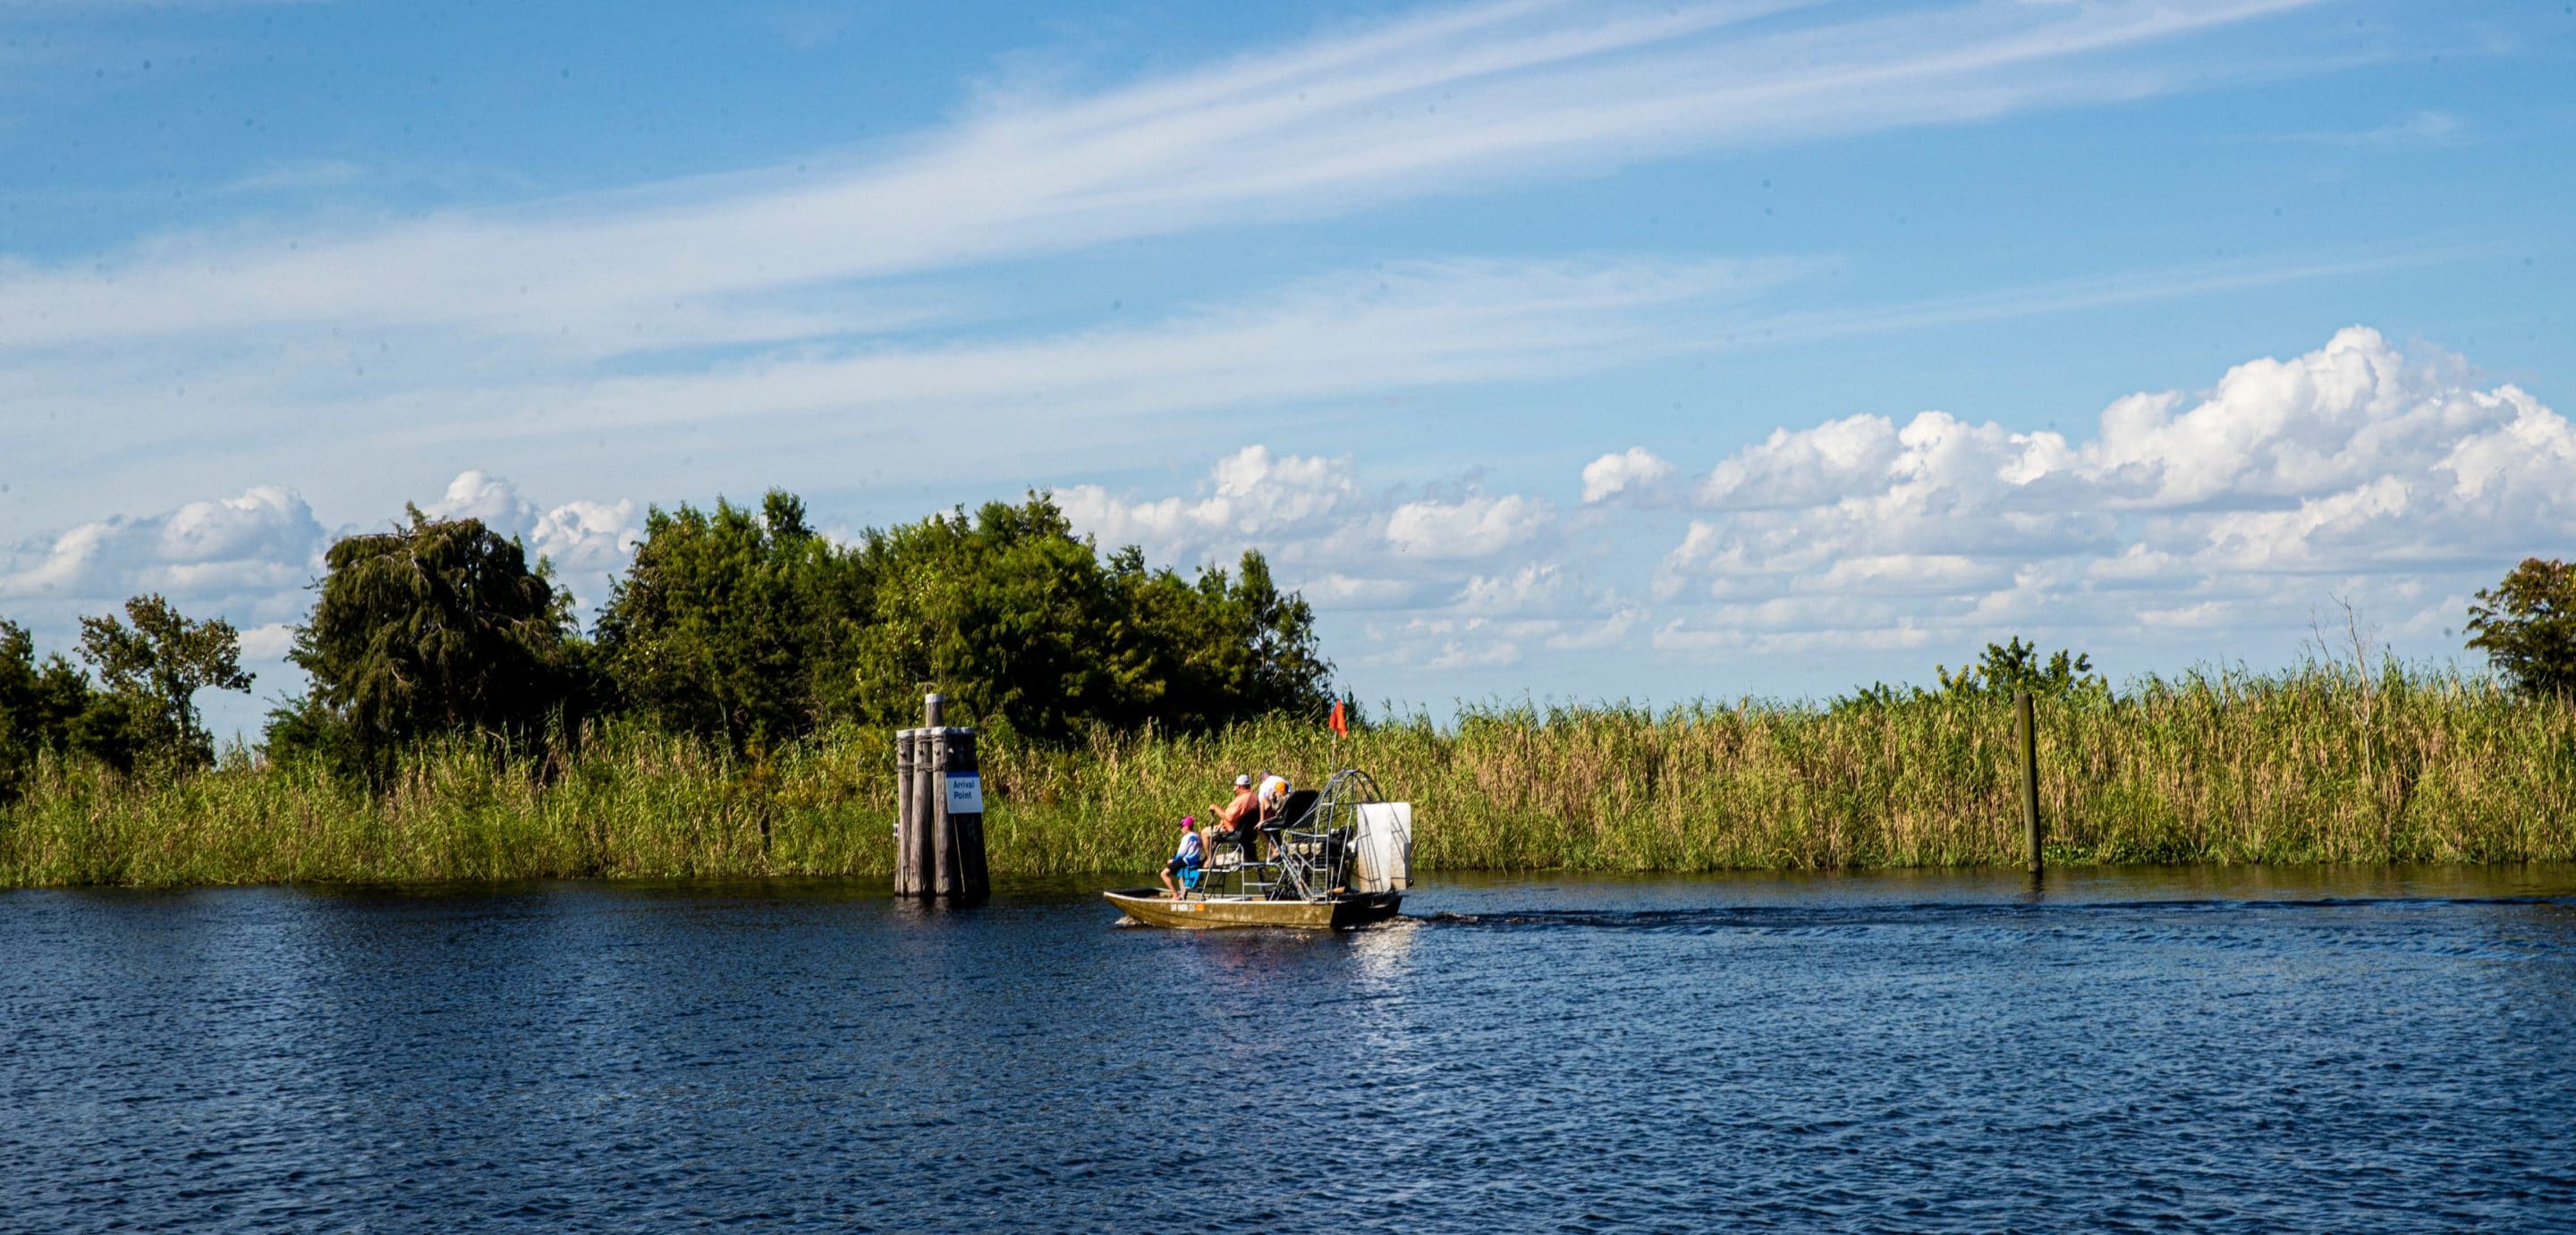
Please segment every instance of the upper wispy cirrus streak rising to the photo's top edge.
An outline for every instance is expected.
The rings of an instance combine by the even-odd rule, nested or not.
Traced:
[[[1437,13],[1090,98],[994,98],[912,149],[438,214],[371,232],[170,237],[0,268],[0,347],[330,322],[564,337],[793,288],[1260,219],[1499,178],[2184,90],[2192,36],[2311,0],[1958,5],[1852,18],[1801,0]],[[677,314],[683,324],[665,324]],[[711,327],[714,340],[744,332]],[[773,319],[773,340],[811,322]],[[634,332],[574,329],[592,355]]]

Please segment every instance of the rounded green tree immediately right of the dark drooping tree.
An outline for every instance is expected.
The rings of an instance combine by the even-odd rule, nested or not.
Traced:
[[[868,594],[866,563],[817,535],[793,494],[770,491],[757,515],[654,507],[600,610],[600,664],[662,728],[775,746],[855,713]]]

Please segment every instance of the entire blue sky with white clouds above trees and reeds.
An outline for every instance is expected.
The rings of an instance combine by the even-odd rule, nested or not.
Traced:
[[[2576,551],[2576,10],[0,0],[0,615],[1054,489],[1345,687],[2447,659]],[[2339,610],[2334,610],[2339,615]],[[209,700],[219,723],[255,702]]]

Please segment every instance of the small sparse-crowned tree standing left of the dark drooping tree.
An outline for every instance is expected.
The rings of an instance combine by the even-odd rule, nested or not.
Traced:
[[[126,702],[118,723],[139,733],[144,751],[183,769],[211,764],[214,738],[198,723],[196,692],[250,692],[242,636],[222,618],[191,620],[160,594],[129,599],[126,623],[82,618],[80,659],[90,661],[108,695]]]

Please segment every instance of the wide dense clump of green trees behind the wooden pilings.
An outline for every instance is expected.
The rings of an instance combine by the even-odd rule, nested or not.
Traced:
[[[1108,561],[1046,494],[953,509],[853,545],[804,504],[654,509],[600,612],[600,664],[634,710],[760,749],[832,723],[907,726],[922,690],[987,728],[1213,728],[1332,708],[1314,610],[1239,571]]]

